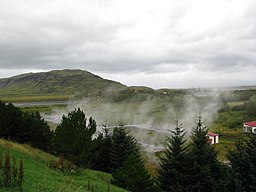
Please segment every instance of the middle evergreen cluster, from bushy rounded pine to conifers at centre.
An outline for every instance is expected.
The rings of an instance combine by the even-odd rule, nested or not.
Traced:
[[[88,121],[88,122],[87,122]],[[58,155],[75,163],[112,174],[112,183],[134,192],[154,192],[156,187],[141,157],[134,137],[123,124],[110,132],[106,125],[103,133],[96,133],[96,122],[85,117],[77,108],[55,130],[55,149]]]

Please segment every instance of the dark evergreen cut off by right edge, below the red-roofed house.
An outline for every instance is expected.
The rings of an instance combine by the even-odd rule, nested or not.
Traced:
[[[236,143],[228,153],[236,191],[256,191],[256,137]]]

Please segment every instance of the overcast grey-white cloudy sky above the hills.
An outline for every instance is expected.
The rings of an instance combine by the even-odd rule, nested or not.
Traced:
[[[256,85],[255,0],[0,0],[0,78],[82,69],[152,88]]]

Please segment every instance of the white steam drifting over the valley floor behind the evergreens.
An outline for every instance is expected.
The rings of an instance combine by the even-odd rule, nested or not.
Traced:
[[[56,108],[51,114],[43,114],[45,120],[55,124],[60,123],[62,115],[80,107],[87,117],[93,117],[100,131],[107,121],[109,127],[114,127],[122,121],[130,134],[135,136],[142,148],[147,151],[163,149],[165,138],[170,130],[175,128],[175,120],[183,125],[189,135],[197,123],[199,113],[204,124],[209,126],[220,109],[220,91],[194,90],[179,98],[181,106],[176,103],[162,103],[148,98],[143,102],[106,103],[88,98],[81,101],[69,101],[67,107]]]

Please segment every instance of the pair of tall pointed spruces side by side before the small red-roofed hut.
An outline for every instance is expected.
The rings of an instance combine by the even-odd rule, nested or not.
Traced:
[[[161,157],[158,182],[162,191],[233,191],[229,167],[217,159],[207,132],[199,117],[187,145],[186,133],[177,122]]]

